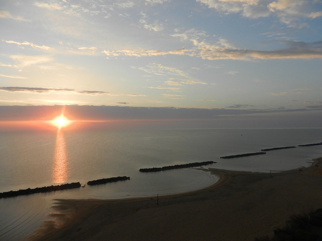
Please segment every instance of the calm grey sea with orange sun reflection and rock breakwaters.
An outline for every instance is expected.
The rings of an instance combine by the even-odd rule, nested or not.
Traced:
[[[88,129],[0,132],[0,192],[80,182],[84,187],[0,199],[0,240],[21,240],[59,212],[56,199],[156,197],[205,188],[219,180],[198,168],[140,168],[214,161],[203,168],[271,173],[308,167],[322,156],[322,128]],[[221,156],[266,151],[264,155]],[[89,186],[88,181],[130,180]]]

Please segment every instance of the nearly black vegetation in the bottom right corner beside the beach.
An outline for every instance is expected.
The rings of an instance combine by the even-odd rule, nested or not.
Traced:
[[[293,215],[285,227],[274,230],[273,237],[255,238],[255,241],[322,241],[322,209]]]

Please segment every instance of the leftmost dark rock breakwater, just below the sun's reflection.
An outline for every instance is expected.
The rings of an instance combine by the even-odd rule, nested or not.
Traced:
[[[27,188],[27,189],[20,189],[19,191],[1,192],[0,198],[28,195],[28,194],[39,193],[39,192],[53,192],[53,191],[78,188],[78,187],[81,187],[81,183],[79,183],[79,182],[78,183],[66,183],[66,184],[56,185],[56,186],[51,185],[48,187],[36,187],[33,189]]]

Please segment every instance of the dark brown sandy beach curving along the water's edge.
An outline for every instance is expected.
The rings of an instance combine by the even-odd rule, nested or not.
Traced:
[[[293,214],[322,208],[322,157],[302,172],[204,169],[214,185],[171,196],[57,200],[57,221],[25,240],[242,240],[271,236]],[[313,164],[313,163],[312,163]]]

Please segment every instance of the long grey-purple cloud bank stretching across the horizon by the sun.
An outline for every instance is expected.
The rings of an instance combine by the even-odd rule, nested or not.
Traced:
[[[62,106],[0,106],[0,121],[26,121],[26,120],[39,120],[46,117],[45,120],[52,120],[57,113],[61,113]],[[133,106],[89,106],[89,105],[68,105],[66,106],[65,113],[71,115],[71,120],[198,120],[198,127],[200,127],[199,120],[216,120],[212,123],[217,126],[217,120],[225,118],[224,126],[227,127],[227,118],[229,117],[242,117],[237,121],[244,120],[248,123],[247,126],[253,127],[257,122],[257,117],[263,116],[266,123],[275,124],[278,122],[278,126],[281,126],[279,119],[274,119],[276,123],[271,123],[272,118],[267,118],[266,114],[276,113],[286,117],[284,121],[285,127],[290,126],[290,121],[293,121],[295,115],[297,118],[303,121],[303,126],[308,127],[308,116],[310,112],[315,119],[320,120],[322,106],[314,106],[302,108],[302,109],[225,109],[225,108],[175,108],[175,107],[133,107]],[[318,111],[318,112],[316,112]],[[46,113],[46,114],[44,114]],[[283,115],[284,113],[284,115]],[[45,116],[44,116],[45,115]],[[52,116],[51,116],[52,115]],[[272,116],[272,115],[270,115]],[[290,117],[288,117],[290,116]],[[274,115],[272,116],[274,117]],[[254,119],[250,119],[254,118]],[[42,119],[44,120],[44,119]],[[252,120],[252,121],[251,121]],[[250,122],[251,121],[251,122]],[[316,126],[319,126],[320,122],[315,121]],[[234,123],[236,127],[237,122]],[[261,126],[263,127],[263,126]]]

